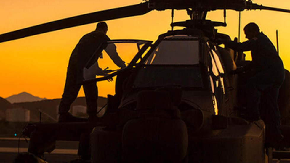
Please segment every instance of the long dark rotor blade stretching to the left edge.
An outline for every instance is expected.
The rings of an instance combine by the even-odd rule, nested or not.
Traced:
[[[126,7],[108,9],[108,10],[103,10],[99,12],[79,15],[75,17],[69,17],[69,18],[1,34],[0,43],[27,37],[27,36],[51,32],[55,30],[99,22],[99,21],[113,20],[113,19],[118,19],[118,18],[123,18],[123,17],[142,15],[142,14],[146,14],[150,12],[151,10],[152,9],[148,9],[148,2],[145,2],[145,3],[126,6]]]

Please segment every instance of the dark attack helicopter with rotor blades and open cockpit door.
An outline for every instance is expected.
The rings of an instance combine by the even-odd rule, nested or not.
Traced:
[[[105,114],[94,123],[28,125],[23,135],[30,137],[29,153],[20,154],[15,161],[30,156],[41,160],[44,152],[54,150],[55,141],[72,140],[80,142],[78,154],[84,162],[271,162],[278,153],[265,146],[265,123],[238,117],[236,108],[245,106],[247,77],[232,72],[237,65],[246,64],[244,54],[217,45],[217,38],[230,40],[214,29],[226,23],[206,20],[206,14],[219,9],[290,10],[250,0],[148,0],[5,33],[0,42],[166,9],[185,9],[190,20],[172,22],[172,30],[159,35],[154,43],[107,42],[108,46],[133,43],[138,52],[126,68],[84,80],[117,76],[116,94],[108,96]],[[184,29],[173,30],[177,26]],[[285,80],[285,87],[289,84]],[[281,128],[285,138],[280,146],[289,147],[290,128]]]

